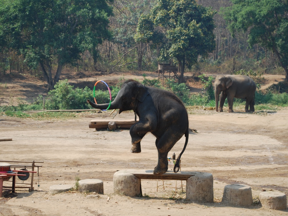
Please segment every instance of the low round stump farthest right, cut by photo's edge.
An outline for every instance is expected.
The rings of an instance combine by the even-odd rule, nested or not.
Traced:
[[[276,191],[265,191],[259,194],[262,207],[267,209],[285,210],[287,209],[286,194]]]

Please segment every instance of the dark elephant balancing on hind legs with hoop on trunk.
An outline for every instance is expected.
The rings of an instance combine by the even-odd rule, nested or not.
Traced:
[[[109,105],[95,104],[89,100],[87,103],[97,109],[106,109]],[[144,86],[134,80],[127,80],[109,109],[120,109],[119,113],[133,110],[139,116],[139,122],[130,128],[132,153],[141,152],[140,141],[147,132],[156,137],[158,164],[153,171],[154,174],[166,173],[168,152],[185,134],[184,148],[174,166],[174,172],[178,172],[179,160],[186,148],[189,130],[187,111],[177,96],[162,89]]]

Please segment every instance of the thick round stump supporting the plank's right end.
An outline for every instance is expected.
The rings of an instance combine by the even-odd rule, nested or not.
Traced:
[[[193,172],[186,181],[186,198],[191,201],[213,202],[213,176],[211,173]]]

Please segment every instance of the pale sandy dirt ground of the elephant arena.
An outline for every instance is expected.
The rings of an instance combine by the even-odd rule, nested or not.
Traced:
[[[94,77],[106,80],[107,77]],[[124,75],[126,78],[126,76]],[[283,77],[280,77],[282,79]],[[279,78],[271,78],[273,82]],[[72,81],[72,80],[71,80]],[[83,78],[83,82],[92,82]],[[1,82],[2,85],[5,81]],[[28,91],[31,82],[5,88],[15,98],[45,93],[45,84],[38,92]],[[75,83],[77,83],[75,81]],[[20,81],[19,81],[20,84]],[[31,87],[34,88],[34,87]],[[15,90],[15,92],[11,92]],[[18,89],[18,93],[16,90]],[[11,91],[10,91],[11,90]],[[8,100],[9,101],[9,100]],[[227,111],[224,110],[224,111]],[[5,193],[0,198],[0,215],[287,215],[288,210],[265,209],[258,203],[259,193],[273,190],[288,195],[288,109],[261,110],[244,113],[216,113],[215,110],[189,109],[189,142],[181,157],[182,171],[213,174],[214,202],[198,203],[185,199],[181,189],[158,187],[157,180],[142,180],[143,197],[128,197],[113,193],[113,174],[122,169],[152,170],[157,164],[155,137],[148,133],[141,141],[142,152],[130,153],[129,130],[95,130],[89,128],[92,119],[111,119],[109,112],[75,113],[69,120],[31,120],[0,116],[0,160],[43,161],[39,164],[39,180],[34,178],[34,191],[16,188],[16,193]],[[133,112],[123,112],[115,119],[133,119]],[[168,156],[176,156],[183,149],[182,137]],[[173,166],[169,166],[173,169]],[[49,193],[51,185],[75,186],[75,178],[100,179],[104,194],[64,192]],[[16,182],[22,183],[17,177]],[[30,183],[29,178],[27,182]],[[174,186],[176,181],[164,181]],[[25,183],[25,181],[24,181]],[[159,182],[158,182],[159,183]],[[222,204],[223,189],[227,184],[251,186],[254,205],[236,207]],[[11,185],[5,181],[4,185]],[[39,187],[37,186],[39,185]],[[177,181],[177,187],[181,181]]]

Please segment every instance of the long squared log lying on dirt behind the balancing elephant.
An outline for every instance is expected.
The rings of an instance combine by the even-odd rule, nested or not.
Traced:
[[[134,119],[130,120],[114,120],[114,119],[92,119],[89,124],[89,128],[96,128],[96,129],[105,129],[108,128],[109,122],[115,122],[116,128],[130,128],[133,124],[135,124],[138,121],[135,121]]]

